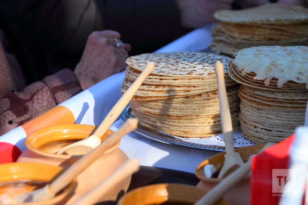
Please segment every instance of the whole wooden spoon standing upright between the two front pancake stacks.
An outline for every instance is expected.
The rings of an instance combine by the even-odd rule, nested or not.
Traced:
[[[231,121],[227,91],[225,86],[224,65],[220,61],[217,61],[214,65],[214,68],[218,84],[221,127],[226,148],[225,163],[218,175],[218,178],[223,178],[229,175],[237,168],[239,168],[241,165],[243,165],[244,162],[240,154],[234,151],[233,129],[232,129],[232,121]]]

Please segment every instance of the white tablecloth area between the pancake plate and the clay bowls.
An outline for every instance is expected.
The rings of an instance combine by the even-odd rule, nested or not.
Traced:
[[[111,127],[116,130],[122,125],[116,121]],[[136,132],[131,132],[122,138],[120,149],[131,158],[139,158],[140,165],[168,168],[179,171],[195,173],[195,169],[206,158],[217,154],[195,148],[181,147],[166,144],[143,137]]]

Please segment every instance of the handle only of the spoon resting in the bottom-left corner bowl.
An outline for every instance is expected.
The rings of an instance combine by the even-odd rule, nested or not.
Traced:
[[[93,149],[87,155],[81,157],[70,168],[68,168],[63,174],[61,174],[55,181],[50,184],[50,188],[54,193],[59,192],[67,186],[73,179],[75,179],[83,170],[89,167],[103,152],[105,152],[112,145],[117,143],[124,135],[132,132],[138,126],[137,118],[129,118],[120,129],[108,137],[97,148]]]

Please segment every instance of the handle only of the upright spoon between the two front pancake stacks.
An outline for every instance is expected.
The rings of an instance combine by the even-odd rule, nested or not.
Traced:
[[[225,149],[226,153],[231,153],[234,152],[233,129],[228,96],[225,86],[224,65],[220,61],[217,61],[214,65],[214,68],[217,77],[220,119],[222,133],[224,135]]]

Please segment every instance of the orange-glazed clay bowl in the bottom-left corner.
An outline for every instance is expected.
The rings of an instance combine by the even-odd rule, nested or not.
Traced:
[[[27,181],[43,181],[50,183],[55,179],[59,174],[63,172],[62,167],[57,167],[50,164],[41,164],[41,163],[7,163],[7,164],[0,164],[0,183],[9,183],[9,182],[17,182],[20,180],[27,180]],[[3,185],[2,185],[3,188]],[[0,190],[2,189],[0,186]],[[25,186],[22,192],[19,194],[24,193],[25,190],[30,190],[31,186]],[[63,189],[62,192],[57,194],[52,199],[42,200],[39,202],[29,202],[29,203],[22,203],[28,205],[51,205],[51,204],[64,204],[67,200],[71,197],[74,190],[76,188],[76,180],[72,183],[67,185]],[[10,189],[11,190],[11,189]],[[20,187],[15,191],[20,190]],[[2,190],[5,191],[5,190]],[[8,193],[9,191],[5,191]],[[27,192],[27,191],[26,191]],[[1,197],[0,197],[1,198]],[[1,203],[1,202],[0,202]]]

